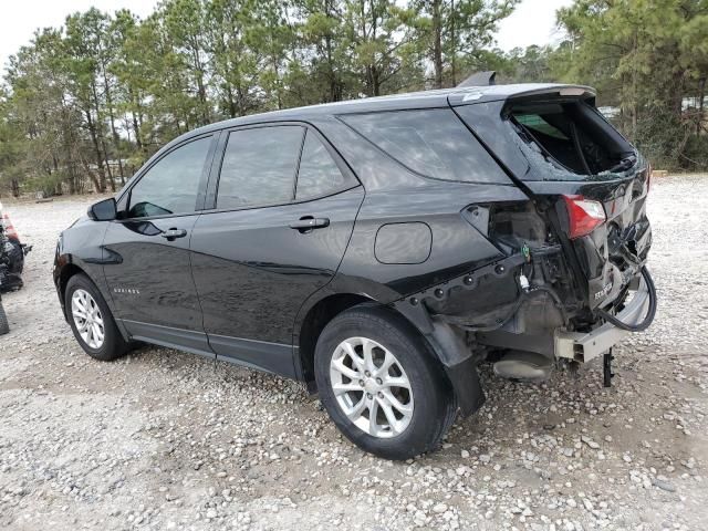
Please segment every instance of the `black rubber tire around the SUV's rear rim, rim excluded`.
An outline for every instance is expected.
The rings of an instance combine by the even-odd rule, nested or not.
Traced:
[[[337,345],[351,337],[375,341],[396,357],[407,375],[414,408],[403,433],[389,438],[369,435],[337,403],[330,363]],[[386,306],[354,306],[334,317],[317,340],[314,368],[320,399],[334,424],[352,442],[378,457],[403,460],[434,449],[455,418],[454,393],[440,362],[410,323]]]

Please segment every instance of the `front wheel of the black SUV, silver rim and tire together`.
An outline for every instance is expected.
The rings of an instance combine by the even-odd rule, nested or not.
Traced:
[[[69,279],[64,304],[71,330],[91,357],[111,362],[128,351],[129,344],[121,335],[108,305],[88,277],[75,274]]]

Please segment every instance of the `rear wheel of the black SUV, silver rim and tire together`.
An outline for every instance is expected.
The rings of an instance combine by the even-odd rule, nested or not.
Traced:
[[[317,340],[314,368],[334,424],[376,456],[403,460],[431,450],[455,419],[441,364],[427,341],[386,306],[354,306],[334,317]]]

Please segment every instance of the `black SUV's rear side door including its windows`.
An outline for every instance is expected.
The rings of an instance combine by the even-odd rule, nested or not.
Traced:
[[[228,131],[221,144],[191,239],[204,327],[218,356],[293,376],[295,314],[335,273],[364,192],[304,125]]]

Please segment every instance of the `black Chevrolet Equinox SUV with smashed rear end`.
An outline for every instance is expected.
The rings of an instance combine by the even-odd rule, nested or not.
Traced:
[[[305,382],[361,448],[434,448],[482,361],[541,381],[656,308],[650,170],[585,86],[498,85],[221,122],[65,230],[83,348],[147,342]]]

